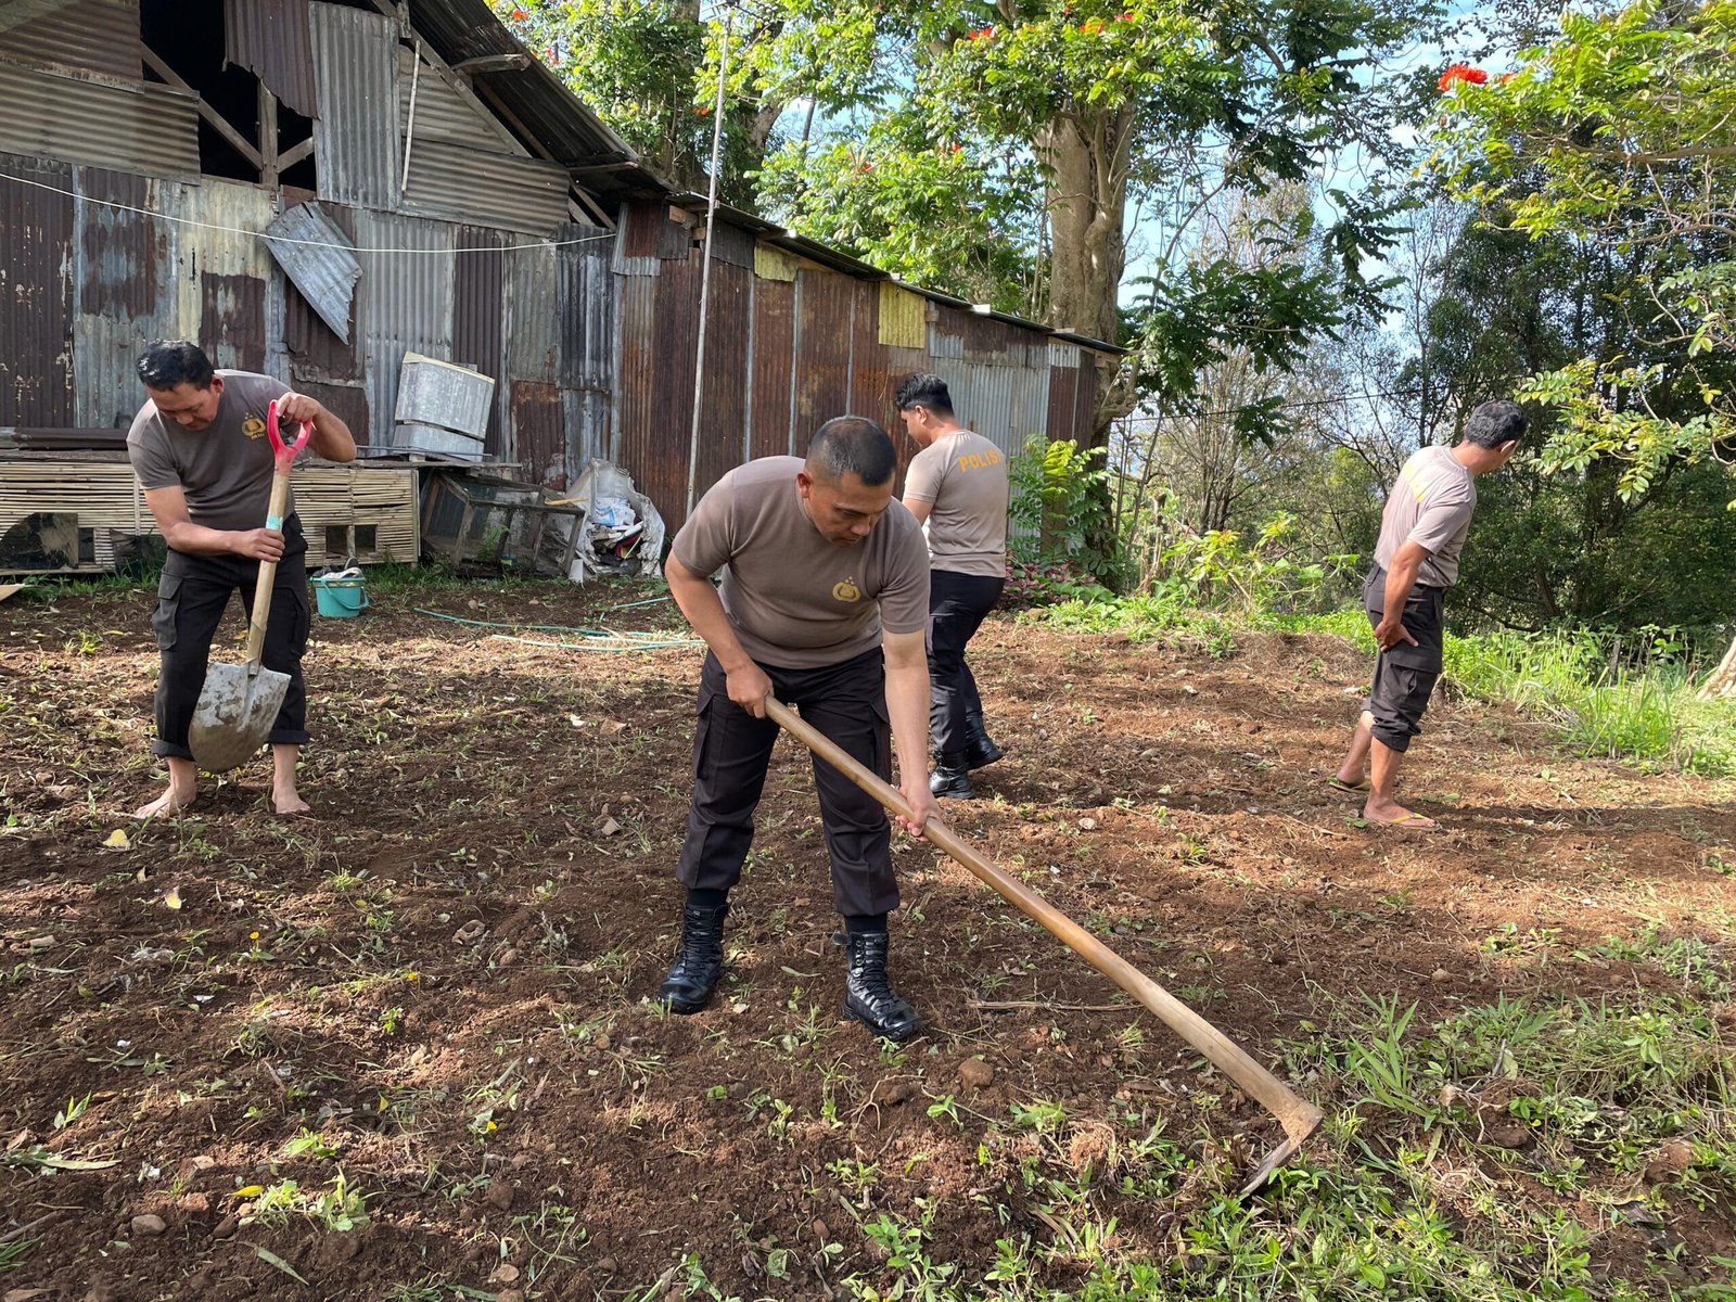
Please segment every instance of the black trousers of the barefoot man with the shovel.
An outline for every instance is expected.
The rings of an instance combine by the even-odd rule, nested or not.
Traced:
[[[307,691],[302,686],[302,653],[307,651],[307,538],[295,516],[283,521],[283,559],[271,589],[271,615],[266,620],[266,646],[260,663],[290,675],[283,708],[271,727],[271,743],[307,743]],[[156,649],[161,665],[156,674],[156,740],[151,753],[193,759],[187,727],[193,707],[205,687],[212,637],[229,608],[229,595],[241,594],[241,608],[252,616],[253,585],[259,561],[245,556],[193,556],[170,549],[163,578],[156,585]],[[240,648],[234,653],[241,658]]]

